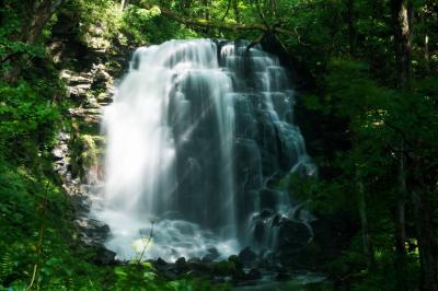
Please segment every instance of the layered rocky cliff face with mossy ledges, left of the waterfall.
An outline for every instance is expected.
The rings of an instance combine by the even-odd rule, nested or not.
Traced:
[[[96,263],[108,264],[115,254],[103,247],[110,228],[90,217],[92,199],[103,178],[105,139],[101,135],[102,109],[112,102],[115,79],[123,72],[127,47],[112,47],[93,27],[83,42],[76,42],[68,25],[56,27],[50,53],[66,84],[70,127],[58,135],[53,150],[54,170],[77,209],[76,225],[83,243],[96,249]]]

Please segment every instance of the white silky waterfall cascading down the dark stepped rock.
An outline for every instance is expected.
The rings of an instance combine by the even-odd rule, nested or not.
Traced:
[[[134,54],[104,113],[105,190],[93,206],[118,258],[235,254],[254,211],[290,207],[266,177],[315,171],[284,69],[246,47],[170,40]]]

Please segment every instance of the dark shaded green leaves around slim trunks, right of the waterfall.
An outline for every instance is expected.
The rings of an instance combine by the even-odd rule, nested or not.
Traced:
[[[349,278],[351,290],[396,290],[397,278],[403,276],[401,272],[405,273],[404,283],[408,290],[418,286],[419,266],[415,249],[408,249],[407,261],[401,270],[394,269],[399,263],[393,246],[393,211],[400,195],[403,195],[399,174],[402,141],[403,150],[423,160],[424,174],[411,168],[407,175],[423,175],[429,183],[436,181],[428,174],[437,173],[437,164],[431,162],[437,154],[437,141],[430,125],[438,124],[435,110],[438,91],[434,80],[435,77],[415,80],[412,91],[400,92],[379,84],[364,62],[336,58],[327,62],[323,93],[320,96],[310,94],[304,101],[312,110],[347,120],[349,149],[322,163],[335,173],[333,177],[316,183],[292,177],[290,185],[295,186],[293,195],[309,199],[314,213],[330,216],[350,211],[358,223],[361,207],[358,183],[362,185],[376,267],[368,267],[361,233],[351,240],[349,249],[326,265],[327,271],[334,276]],[[434,188],[424,188],[427,191],[424,199],[436,209]],[[406,219],[410,220],[411,214]],[[415,237],[415,233],[408,233],[408,236]]]

